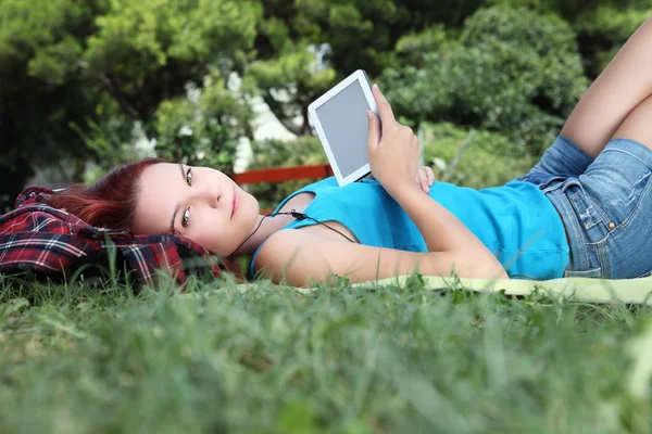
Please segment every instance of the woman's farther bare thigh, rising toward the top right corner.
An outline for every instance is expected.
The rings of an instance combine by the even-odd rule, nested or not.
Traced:
[[[593,81],[561,133],[595,158],[627,116],[650,94],[652,20],[648,18]]]

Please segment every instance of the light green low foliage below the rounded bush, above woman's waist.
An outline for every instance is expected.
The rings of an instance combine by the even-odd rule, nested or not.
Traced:
[[[436,179],[481,189],[502,186],[535,165],[522,146],[486,130],[467,130],[449,123],[424,127],[424,161]]]

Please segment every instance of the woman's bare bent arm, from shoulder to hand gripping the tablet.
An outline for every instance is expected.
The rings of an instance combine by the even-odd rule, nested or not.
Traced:
[[[274,282],[294,286],[333,284],[331,273],[363,282],[410,275],[416,268],[429,276],[450,276],[454,270],[463,278],[507,278],[500,261],[468,228],[424,195],[414,181],[418,141],[410,128],[396,122],[377,86],[373,93],[383,119],[383,137],[378,118],[369,112],[367,151],[372,174],[412,218],[430,252],[372,247],[286,229],[274,233],[261,247],[256,270],[269,273]]]

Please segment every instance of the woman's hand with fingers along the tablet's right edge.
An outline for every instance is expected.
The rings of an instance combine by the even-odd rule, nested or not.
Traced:
[[[383,122],[383,131],[380,131],[378,117],[374,112],[367,112],[369,119],[367,155],[372,175],[390,194],[403,186],[414,188],[421,156],[418,139],[411,128],[397,122],[389,102],[378,86],[372,87],[372,93]]]

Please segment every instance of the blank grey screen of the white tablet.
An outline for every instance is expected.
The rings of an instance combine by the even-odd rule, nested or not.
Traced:
[[[369,162],[366,143],[371,110],[358,80],[315,110],[342,177]]]

